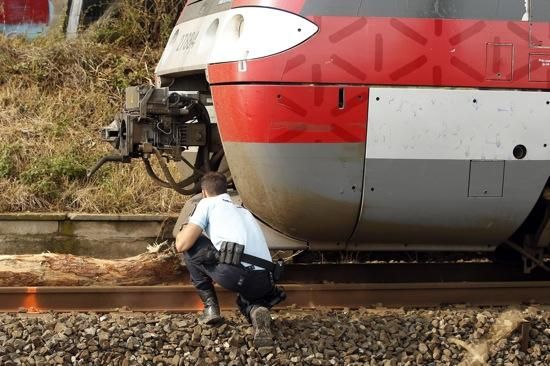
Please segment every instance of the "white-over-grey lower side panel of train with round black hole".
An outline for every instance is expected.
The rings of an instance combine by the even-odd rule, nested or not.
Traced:
[[[372,88],[369,98],[354,245],[489,249],[519,228],[550,176],[550,93]]]

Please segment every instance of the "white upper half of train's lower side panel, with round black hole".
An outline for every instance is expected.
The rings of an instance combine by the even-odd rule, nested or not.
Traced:
[[[367,158],[550,160],[550,92],[371,88]]]

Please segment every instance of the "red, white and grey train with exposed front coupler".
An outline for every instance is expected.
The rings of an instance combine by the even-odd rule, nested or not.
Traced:
[[[156,75],[100,165],[223,171],[272,248],[548,269],[550,1],[190,0]]]

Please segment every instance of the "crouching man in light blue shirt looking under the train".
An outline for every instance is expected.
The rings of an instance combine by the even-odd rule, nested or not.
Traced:
[[[277,277],[279,267],[272,262],[252,214],[231,201],[225,176],[208,173],[201,188],[203,199],[176,236],[176,250],[184,252],[191,280],[204,303],[199,322],[223,320],[215,282],[238,294],[239,310],[254,327],[255,346],[269,346],[273,343],[269,309],[286,297],[275,286],[274,273]]]

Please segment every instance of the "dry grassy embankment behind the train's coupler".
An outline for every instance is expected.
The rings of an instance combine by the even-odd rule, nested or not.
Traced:
[[[85,180],[110,150],[99,129],[122,107],[127,86],[152,79],[182,3],[121,2],[133,6],[115,8],[73,42],[55,31],[32,42],[0,36],[0,212],[156,213],[183,204],[138,161]]]

